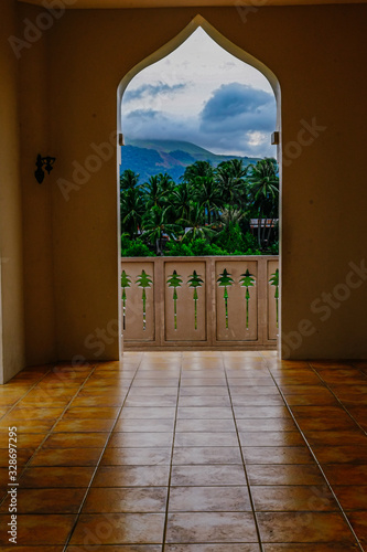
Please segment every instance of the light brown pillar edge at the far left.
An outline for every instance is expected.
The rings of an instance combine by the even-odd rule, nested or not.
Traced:
[[[18,64],[8,38],[17,34],[15,8],[0,17],[0,382],[24,367],[22,212],[20,190]]]

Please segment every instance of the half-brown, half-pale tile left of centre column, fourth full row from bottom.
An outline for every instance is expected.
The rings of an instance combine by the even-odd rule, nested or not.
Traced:
[[[171,447],[107,448],[102,466],[159,466],[171,461]]]

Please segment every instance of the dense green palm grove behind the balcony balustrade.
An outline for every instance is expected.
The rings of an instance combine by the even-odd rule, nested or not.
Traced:
[[[278,216],[274,159],[246,167],[231,159],[217,168],[196,161],[177,184],[166,173],[140,184],[139,174],[129,169],[120,181],[123,256],[149,256],[152,250],[173,256],[277,252],[273,224],[259,226],[257,240],[248,232],[250,217]]]

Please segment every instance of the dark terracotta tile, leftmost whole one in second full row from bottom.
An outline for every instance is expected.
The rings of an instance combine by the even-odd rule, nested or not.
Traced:
[[[18,492],[18,513],[77,513],[86,489],[24,489]],[[9,500],[0,508],[8,512]]]

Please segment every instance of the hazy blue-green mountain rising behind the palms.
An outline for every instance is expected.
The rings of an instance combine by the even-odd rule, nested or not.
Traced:
[[[195,161],[209,161],[217,167],[229,159],[244,159],[245,164],[256,163],[260,158],[238,156],[218,156],[195,144],[179,140],[127,140],[121,150],[122,173],[131,169],[140,174],[139,182],[145,182],[150,177],[168,172],[179,182],[188,164]]]

